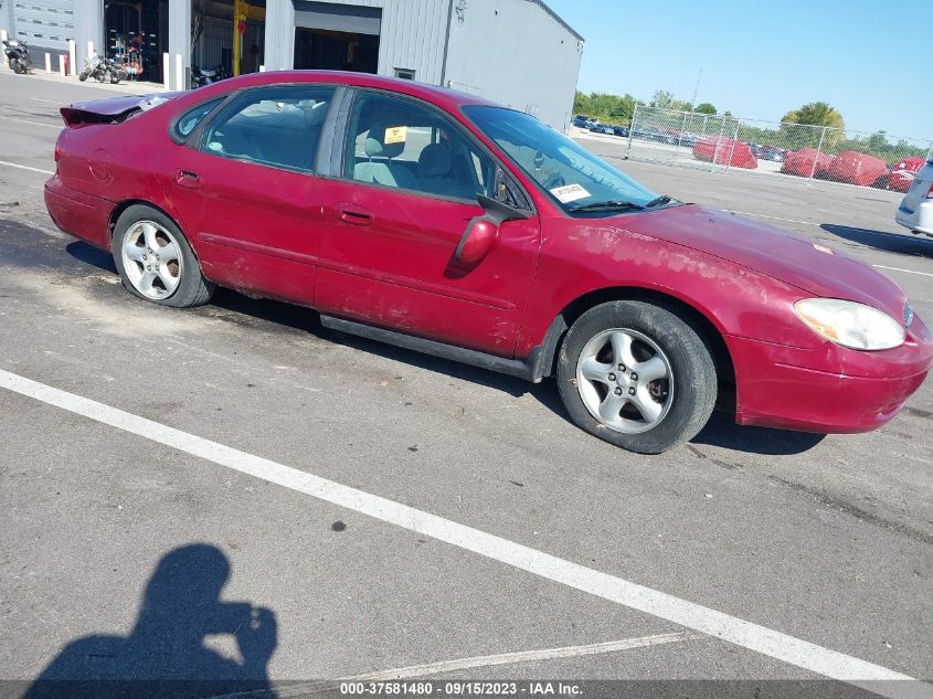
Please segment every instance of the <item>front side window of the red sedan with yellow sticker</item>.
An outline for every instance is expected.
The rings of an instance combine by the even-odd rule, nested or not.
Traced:
[[[494,192],[494,160],[446,117],[400,97],[357,97],[343,162],[347,178],[369,184],[466,201]]]

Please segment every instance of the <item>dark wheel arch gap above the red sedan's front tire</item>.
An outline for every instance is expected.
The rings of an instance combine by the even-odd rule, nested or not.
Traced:
[[[725,396],[734,393],[735,368],[732,362],[732,354],[725,343],[723,329],[718,322],[696,305],[657,289],[649,289],[639,286],[615,286],[601,289],[593,289],[570,301],[554,317],[541,346],[541,375],[554,375],[556,367],[558,350],[566,335],[568,329],[580,316],[600,304],[619,300],[643,300],[654,303],[667,310],[675,313],[683,319],[700,336],[700,339],[710,349],[715,363],[717,373],[720,377],[720,393]],[[722,385],[724,384],[724,385]],[[723,390],[725,389],[725,390]],[[734,403],[734,396],[729,401]],[[734,405],[733,405],[734,407]]]

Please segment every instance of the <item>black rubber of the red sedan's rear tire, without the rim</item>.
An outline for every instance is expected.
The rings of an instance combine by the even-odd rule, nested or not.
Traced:
[[[165,298],[149,298],[148,296],[141,294],[129,280],[127,272],[124,268],[121,253],[124,236],[127,234],[127,231],[140,221],[152,221],[159,224],[169,231],[178,243],[182,261],[181,276],[179,278],[178,287],[170,296]],[[198,263],[198,257],[194,256],[194,252],[191,250],[191,245],[188,243],[188,239],[184,237],[181,229],[178,227],[174,221],[158,209],[153,209],[145,204],[134,204],[124,211],[119,219],[117,219],[117,223],[114,226],[114,234],[110,240],[110,252],[114,255],[114,263],[117,266],[117,272],[119,272],[124,287],[126,287],[126,289],[134,296],[138,296],[147,301],[159,304],[160,306],[171,306],[172,308],[191,308],[193,306],[202,306],[206,304],[211,299],[211,296],[213,296],[214,289],[216,288],[216,286],[212,282],[205,279],[204,275],[201,273],[201,265]]]

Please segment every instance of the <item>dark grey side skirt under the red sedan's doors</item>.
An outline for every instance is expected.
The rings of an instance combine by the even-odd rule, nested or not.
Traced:
[[[528,359],[506,359],[503,357],[496,357],[495,354],[487,354],[486,352],[478,352],[476,350],[465,349],[463,347],[455,347],[453,345],[445,345],[435,340],[426,340],[424,338],[415,337],[413,335],[405,335],[394,330],[386,330],[375,326],[365,325],[363,322],[356,322],[353,320],[344,320],[343,318],[335,318],[333,316],[325,316],[321,314],[320,322],[325,328],[331,330],[340,330],[348,335],[357,335],[370,340],[378,340],[379,342],[386,342],[405,349],[414,350],[416,352],[424,352],[442,359],[449,359],[458,361],[463,364],[471,367],[479,367],[480,369],[488,369],[490,371],[498,371],[499,373],[509,374],[510,377],[518,377],[527,381],[538,383],[541,381],[541,348],[536,347],[531,350]]]

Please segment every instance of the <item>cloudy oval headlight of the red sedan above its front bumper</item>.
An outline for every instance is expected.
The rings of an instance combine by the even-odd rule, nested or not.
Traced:
[[[817,335],[842,347],[881,350],[900,347],[907,335],[888,314],[838,298],[805,298],[794,311]]]

